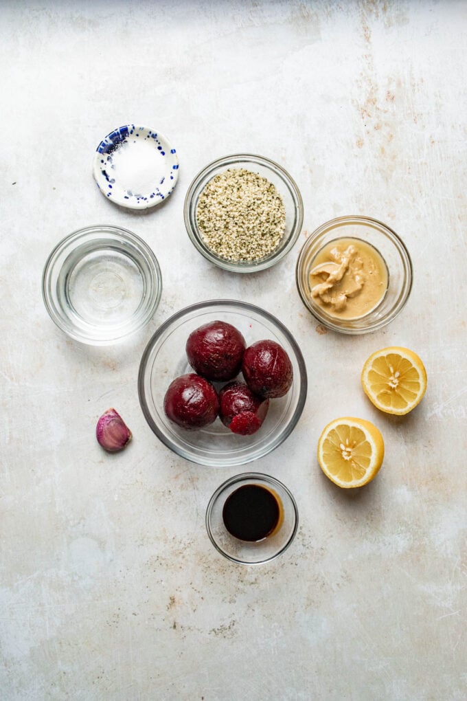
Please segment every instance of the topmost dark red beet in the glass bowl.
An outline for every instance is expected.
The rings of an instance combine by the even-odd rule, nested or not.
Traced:
[[[232,380],[239,374],[245,348],[242,334],[225,321],[200,326],[186,341],[186,355],[193,370],[214,381]]]

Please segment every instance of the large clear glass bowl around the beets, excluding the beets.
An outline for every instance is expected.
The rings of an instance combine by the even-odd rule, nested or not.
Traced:
[[[185,351],[188,336],[197,327],[216,320],[237,327],[247,346],[262,339],[276,341],[292,362],[291,389],[284,397],[270,400],[263,426],[250,436],[235,435],[219,418],[201,430],[184,430],[169,421],[164,412],[169,384],[177,376],[193,372]],[[290,435],[305,405],[307,372],[292,334],[272,314],[241,301],[204,301],[174,314],[155,332],[141,359],[138,389],[146,421],[162,443],[194,463],[232,467],[262,458]]]

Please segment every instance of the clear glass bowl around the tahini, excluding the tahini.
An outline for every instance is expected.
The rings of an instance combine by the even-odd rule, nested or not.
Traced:
[[[361,239],[381,254],[388,273],[386,294],[367,314],[352,319],[326,313],[312,297],[310,271],[324,246],[339,238]],[[303,304],[323,326],[344,334],[365,334],[389,324],[400,311],[412,289],[412,261],[398,234],[370,217],[337,217],[319,226],[305,241],[296,266],[296,283]]]

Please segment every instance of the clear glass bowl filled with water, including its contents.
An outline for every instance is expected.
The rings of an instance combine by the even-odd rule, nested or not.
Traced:
[[[50,253],[42,277],[50,318],[76,341],[105,346],[153,316],[162,276],[151,248],[119,226],[74,231]]]

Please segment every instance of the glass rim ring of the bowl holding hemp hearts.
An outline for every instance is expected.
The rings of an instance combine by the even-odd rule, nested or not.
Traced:
[[[297,218],[295,227],[291,230],[291,234],[284,248],[282,248],[281,250],[277,250],[275,253],[272,252],[270,257],[265,258],[261,261],[251,261],[251,263],[243,264],[240,261],[236,262],[224,260],[221,257],[216,256],[216,254],[214,254],[213,252],[211,252],[207,246],[204,246],[200,240],[197,227],[192,226],[191,219],[189,216],[190,205],[193,200],[193,196],[195,195],[195,192],[198,186],[200,186],[200,183],[202,182],[204,177],[209,175],[209,172],[216,170],[216,168],[219,168],[222,165],[229,165],[230,163],[239,163],[239,161],[246,161],[247,163],[258,163],[259,165],[264,165],[270,170],[278,171],[279,175],[284,180],[288,187],[288,190],[291,193],[295,205],[295,212]],[[207,182],[209,182],[209,180]],[[183,203],[183,219],[191,243],[193,243],[195,248],[198,250],[198,252],[200,252],[200,254],[202,254],[202,256],[204,256],[205,259],[207,259],[211,263],[214,263],[214,265],[218,266],[219,268],[233,273],[258,273],[262,270],[266,270],[267,268],[272,267],[281,259],[283,259],[286,256],[286,254],[288,254],[288,252],[292,249],[293,245],[298,239],[298,236],[300,235],[300,231],[303,225],[303,215],[304,207],[302,195],[293,177],[279,163],[277,163],[276,161],[272,161],[271,158],[267,158],[266,156],[260,156],[259,154],[231,154],[230,156],[221,156],[221,158],[216,158],[215,161],[211,161],[210,163],[205,165],[204,168],[202,168],[202,170],[200,170],[191,181],[190,185],[188,186],[188,190],[186,191],[185,201]]]

